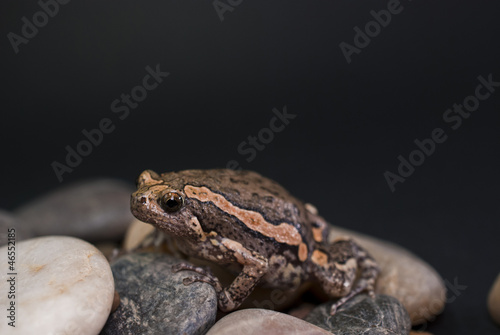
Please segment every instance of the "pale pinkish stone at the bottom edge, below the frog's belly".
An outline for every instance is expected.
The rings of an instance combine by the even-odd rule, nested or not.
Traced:
[[[332,335],[309,322],[267,309],[244,309],[220,319],[207,335]]]

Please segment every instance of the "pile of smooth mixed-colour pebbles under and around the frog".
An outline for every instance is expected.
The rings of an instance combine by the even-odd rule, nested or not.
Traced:
[[[331,301],[301,298],[307,287],[295,294],[258,289],[243,309],[218,312],[210,285],[183,285],[185,273],[172,272],[172,265],[183,261],[179,255],[133,251],[153,230],[130,214],[133,191],[118,180],[93,180],[12,213],[0,211],[1,264],[9,264],[8,240],[15,240],[12,269],[0,274],[2,292],[14,283],[15,297],[0,295],[0,306],[13,304],[16,333],[347,335],[369,329],[410,334],[412,325],[432,320],[444,308],[443,280],[423,260],[400,246],[332,226],[330,240],[351,235],[380,264],[375,299],[359,295],[330,316]],[[113,257],[117,248],[129,251]],[[488,306],[500,323],[500,276]],[[12,325],[0,323],[0,333],[14,333]]]

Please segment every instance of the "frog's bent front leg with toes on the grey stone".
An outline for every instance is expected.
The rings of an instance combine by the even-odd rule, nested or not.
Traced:
[[[184,284],[206,282],[211,284],[218,298],[219,309],[229,312],[241,303],[253,291],[259,280],[268,269],[268,261],[256,252],[245,248],[241,243],[227,238],[210,238],[206,243],[198,246],[203,258],[219,264],[239,263],[243,266],[241,273],[228,287],[222,288],[219,280],[208,269],[196,267],[187,263],[180,263],[173,267],[174,271],[190,270],[195,275],[186,277]],[[203,249],[203,250],[201,250]]]

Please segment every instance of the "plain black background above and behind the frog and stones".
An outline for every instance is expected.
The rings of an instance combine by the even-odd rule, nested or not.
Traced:
[[[211,1],[71,1],[16,54],[7,34],[40,7],[2,1],[0,207],[88,177],[236,160],[466,285],[428,331],[500,333],[486,309],[500,270],[500,87],[457,130],[443,121],[478,76],[500,81],[499,6],[404,0],[348,64],[339,44],[387,3],[242,1],[221,21]],[[120,120],[111,102],[156,64],[170,76]],[[238,146],[283,106],[296,118],[248,162]],[[60,183],[51,164],[103,118],[114,131]],[[391,192],[384,172],[437,127],[447,140]]]

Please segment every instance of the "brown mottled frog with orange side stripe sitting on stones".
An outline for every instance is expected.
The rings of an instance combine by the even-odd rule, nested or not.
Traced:
[[[380,268],[348,236],[328,241],[329,224],[316,207],[276,181],[248,170],[143,171],[131,195],[131,212],[175,240],[186,256],[236,271],[223,287],[207,267],[180,262],[184,285],[210,284],[223,312],[237,309],[259,284],[296,290],[318,283],[338,308],[366,291],[374,297]],[[183,272],[184,273],[184,272]]]

